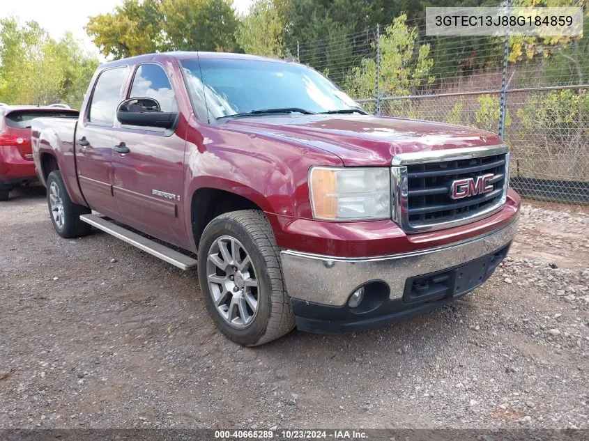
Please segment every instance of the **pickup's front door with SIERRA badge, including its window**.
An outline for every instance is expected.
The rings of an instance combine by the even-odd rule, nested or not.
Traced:
[[[139,65],[129,98],[153,98],[164,112],[178,112],[174,91],[158,64]],[[184,146],[174,130],[121,125],[113,151],[113,194],[121,222],[176,245],[183,244]],[[120,150],[120,149],[118,149]]]

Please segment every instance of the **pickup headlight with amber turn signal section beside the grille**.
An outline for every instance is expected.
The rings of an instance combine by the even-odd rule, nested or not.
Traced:
[[[312,167],[309,189],[316,219],[390,218],[390,169]]]

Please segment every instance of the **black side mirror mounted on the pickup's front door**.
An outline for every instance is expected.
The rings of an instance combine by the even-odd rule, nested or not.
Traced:
[[[162,111],[158,100],[153,98],[130,98],[116,108],[116,118],[125,125],[171,129],[177,117],[176,112]]]

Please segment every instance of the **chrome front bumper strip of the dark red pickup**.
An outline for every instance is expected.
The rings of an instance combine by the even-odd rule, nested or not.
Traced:
[[[419,252],[366,258],[319,256],[285,250],[281,253],[286,289],[293,299],[343,306],[367,281],[384,281],[390,299],[403,296],[406,279],[473,261],[512,242],[517,218],[487,235]]]

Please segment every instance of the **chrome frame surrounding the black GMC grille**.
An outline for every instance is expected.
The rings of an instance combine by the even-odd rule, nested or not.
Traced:
[[[505,185],[503,195],[492,206],[475,213],[465,213],[447,222],[409,222],[408,208],[408,164],[427,164],[432,162],[445,162],[466,160],[478,157],[505,154]],[[468,147],[454,148],[451,150],[433,150],[426,152],[401,153],[392,158],[391,167],[391,213],[392,220],[406,233],[421,233],[424,231],[436,231],[448,229],[452,226],[470,224],[484,217],[489,217],[498,212],[507,201],[507,189],[509,188],[510,153],[507,146]]]

